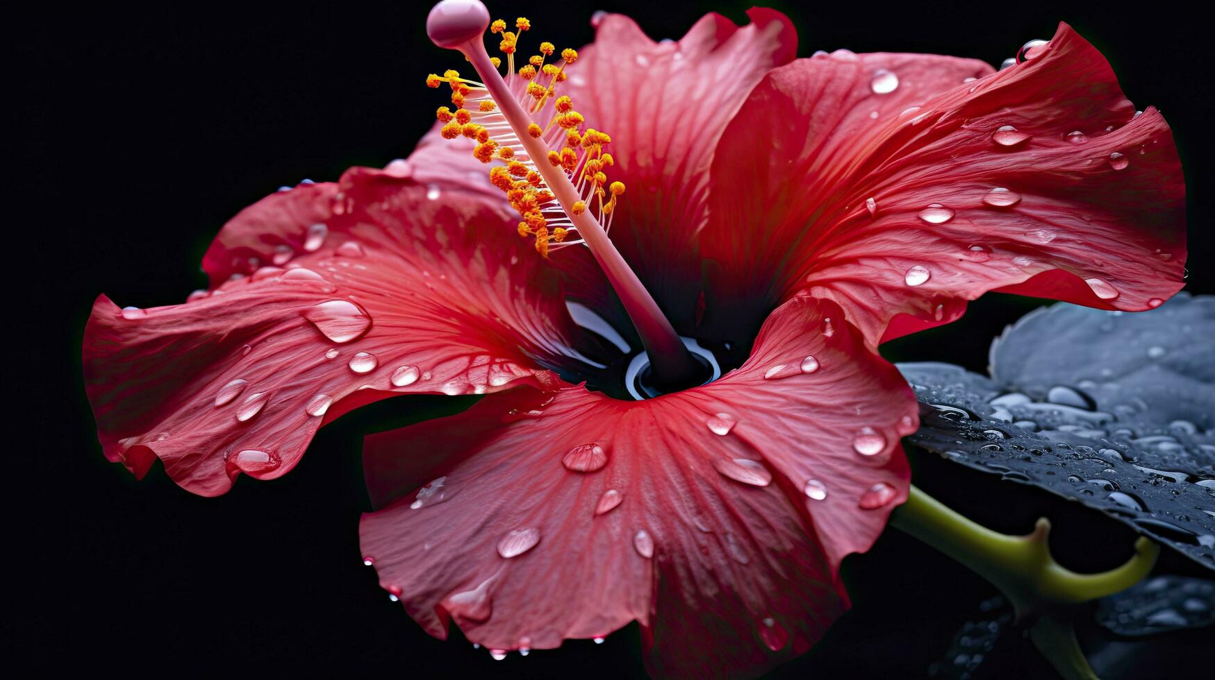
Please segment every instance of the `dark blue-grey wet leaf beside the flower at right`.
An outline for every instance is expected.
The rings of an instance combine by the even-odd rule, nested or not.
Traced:
[[[908,442],[1095,508],[1215,568],[1215,298],[1137,314],[1055,305],[991,347],[993,378],[900,364]]]

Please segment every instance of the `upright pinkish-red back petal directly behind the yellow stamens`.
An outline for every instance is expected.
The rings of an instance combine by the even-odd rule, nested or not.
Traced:
[[[789,63],[789,18],[751,8],[738,27],[706,15],[678,41],[655,42],[633,19],[606,15],[563,85],[587,125],[612,137],[608,174],[628,188],[612,240],[677,325],[700,290],[694,236],[705,223],[713,148],[747,92]]]

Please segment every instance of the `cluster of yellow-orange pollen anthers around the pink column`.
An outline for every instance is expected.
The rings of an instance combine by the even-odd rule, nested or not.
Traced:
[[[592,216],[598,214],[606,229],[617,202],[625,193],[625,185],[608,181],[606,169],[614,165],[614,160],[604,147],[611,142],[611,137],[593,127],[583,129],[586,119],[575,110],[573,101],[566,95],[556,95],[558,85],[566,80],[565,67],[577,61],[578,52],[565,49],[560,52],[560,62],[546,63],[546,58],[553,56],[556,47],[552,42],[541,42],[539,53],[529,57],[527,63],[515,72],[514,55],[519,35],[531,29],[531,22],[519,17],[515,19],[516,33],[507,28],[507,22],[497,19],[490,24],[490,33],[502,36],[498,49],[507,55],[507,85],[516,92],[519,104],[535,119],[525,132],[548,147],[547,158],[537,159],[527,154],[515,136],[521,132],[512,130],[484,84],[460,78],[456,70],[447,70],[441,76],[429,74],[426,85],[439,87],[447,83],[451,86],[454,110],[445,106],[435,113],[443,123],[440,135],[447,140],[462,136],[475,140],[477,143],[473,155],[477,160],[502,163],[490,169],[490,183],[501,189],[510,206],[519,212],[519,236],[532,238],[536,250],[547,257],[550,246],[581,243],[570,232],[577,228],[573,219],[588,210],[592,210]],[[497,57],[491,61],[496,68],[502,63]],[[512,83],[514,78],[520,80]],[[561,209],[536,166],[536,163],[546,162],[560,169],[563,181],[569,181],[580,197],[570,206],[569,214]]]

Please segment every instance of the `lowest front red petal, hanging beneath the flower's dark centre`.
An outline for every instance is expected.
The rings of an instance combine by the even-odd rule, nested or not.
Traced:
[[[439,638],[454,618],[490,648],[547,648],[635,619],[651,672],[682,676],[807,650],[847,607],[840,560],[905,498],[916,424],[840,313],[795,298],[703,387],[520,389],[369,437],[373,498],[431,481],[364,515],[363,554]]]

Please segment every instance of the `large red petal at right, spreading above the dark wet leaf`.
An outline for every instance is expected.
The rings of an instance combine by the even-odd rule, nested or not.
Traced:
[[[714,155],[714,290],[753,305],[809,288],[870,342],[993,289],[1118,310],[1179,290],[1185,186],[1160,114],[1136,114],[1064,24],[1035,58],[983,70],[836,53],[773,72]]]

